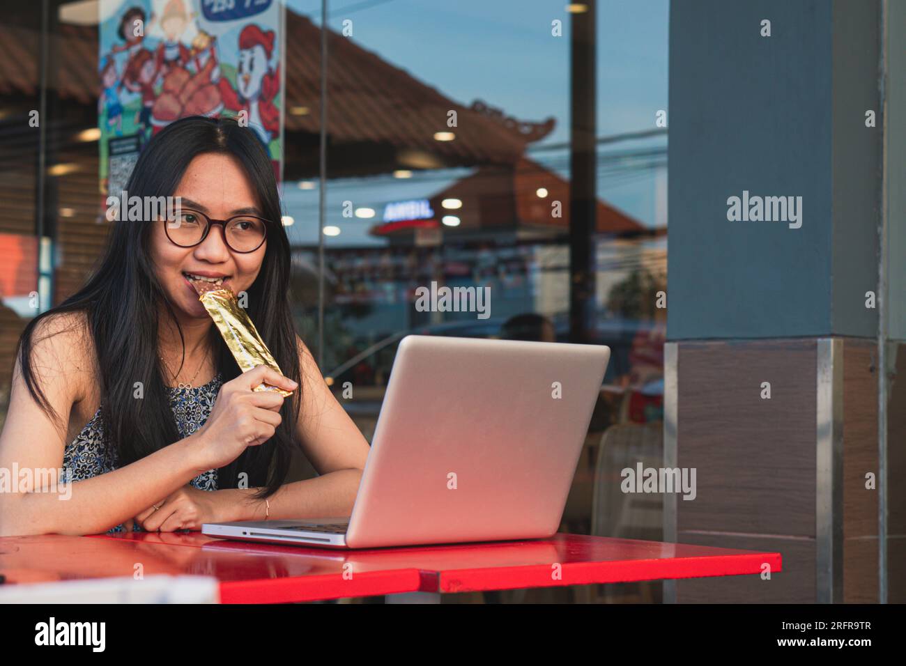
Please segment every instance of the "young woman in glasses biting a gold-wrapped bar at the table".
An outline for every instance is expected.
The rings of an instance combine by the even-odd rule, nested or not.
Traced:
[[[289,242],[254,132],[176,121],[149,141],[127,191],[181,198],[182,224],[114,222],[88,283],[25,327],[0,469],[62,468],[74,483],[65,501],[36,482],[0,492],[0,535],[349,516],[369,445],[294,332]],[[246,292],[283,375],[239,372],[198,279]],[[261,381],[294,392],[252,391]],[[294,450],[321,476],[284,483]]]

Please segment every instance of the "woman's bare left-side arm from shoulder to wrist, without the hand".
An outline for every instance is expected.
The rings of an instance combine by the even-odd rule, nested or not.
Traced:
[[[75,323],[75,326],[72,324]],[[71,328],[66,329],[69,325]],[[131,465],[43,492],[35,479],[59,478],[72,405],[93,381],[91,352],[83,323],[55,315],[34,332],[36,379],[53,409],[55,424],[33,400],[18,360],[13,371],[9,410],[0,432],[0,536],[96,534],[135,516],[205,471],[198,469],[196,439],[190,436]],[[11,478],[17,472],[16,478]],[[60,479],[65,480],[65,479]]]

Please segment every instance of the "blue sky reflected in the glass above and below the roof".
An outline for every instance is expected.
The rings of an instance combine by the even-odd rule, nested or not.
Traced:
[[[287,5],[320,24],[319,0],[287,0]],[[546,145],[569,140],[570,14],[565,5],[551,0],[334,0],[328,24],[340,32],[343,19],[351,19],[354,42],[462,104],[480,99],[520,120],[553,116],[554,131],[535,144]],[[552,36],[554,19],[563,21],[564,36]],[[668,19],[669,0],[599,0],[599,137],[654,129],[655,113],[667,109]],[[666,139],[606,145],[600,153],[656,147],[666,147]],[[568,177],[565,151],[535,155],[530,150],[529,156]],[[375,242],[367,234],[374,220],[341,217],[343,199],[380,214],[390,200],[427,197],[467,173],[432,173],[420,183],[389,177],[331,181],[327,224],[342,233],[328,238],[328,245]],[[648,226],[666,221],[665,168],[602,174],[598,194]],[[296,220],[287,229],[294,242],[316,240],[317,190],[286,183],[284,202]]]

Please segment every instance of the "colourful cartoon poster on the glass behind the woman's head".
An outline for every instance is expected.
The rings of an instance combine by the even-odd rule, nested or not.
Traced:
[[[100,12],[102,198],[152,136],[196,114],[247,123],[281,179],[282,0],[101,0]]]

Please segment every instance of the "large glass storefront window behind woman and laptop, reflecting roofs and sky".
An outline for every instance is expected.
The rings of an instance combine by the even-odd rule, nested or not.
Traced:
[[[571,104],[588,106],[596,125],[594,219],[583,240],[593,248],[587,342],[613,352],[586,463],[610,426],[659,420],[664,310],[658,298],[666,288],[667,251],[666,127],[659,113],[667,97],[667,3],[644,12],[625,3],[597,7],[595,49],[584,52],[594,53],[593,62],[579,68],[593,68],[593,98],[575,97],[571,87],[579,75],[571,60],[578,5],[333,5],[326,126],[320,3],[285,3],[284,91],[273,102],[284,122],[282,195],[293,244],[295,322],[366,437],[407,333],[573,340],[570,233],[580,213],[570,210],[577,131]],[[13,139],[4,142],[0,164],[8,175],[0,185],[8,210],[0,227],[6,391],[24,321],[82,284],[109,228],[99,206],[108,184],[99,182],[99,166],[109,146],[98,112],[103,118],[111,112],[111,100],[99,104],[102,89],[110,90],[103,88],[101,66],[115,59],[113,68],[125,76],[135,54],[130,43],[136,53],[146,47],[156,53],[163,39],[149,20],[144,40],[120,48],[114,39],[101,62],[99,22],[117,12],[144,12],[148,20],[156,7],[151,0],[82,0],[54,3],[42,16],[34,5],[0,25],[23,49],[24,63],[0,72],[11,91],[0,122]],[[204,32],[183,27],[185,34]],[[196,58],[198,38],[184,44]],[[230,71],[230,63],[219,64]],[[202,63],[188,64],[190,73],[193,66]],[[142,119],[138,111],[130,115],[133,107],[140,111],[137,94],[121,87],[117,93],[125,123],[117,136]],[[27,116],[41,108],[39,131],[28,127]],[[419,306],[419,293],[442,288],[467,290],[475,300],[466,311]],[[352,400],[342,394],[348,383],[355,387]],[[591,473],[580,470],[577,484],[587,485]],[[588,503],[580,504],[570,515],[579,529],[589,519]]]

